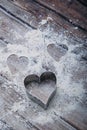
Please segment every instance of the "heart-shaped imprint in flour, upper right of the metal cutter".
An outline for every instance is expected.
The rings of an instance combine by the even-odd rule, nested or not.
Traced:
[[[56,61],[59,61],[62,56],[68,51],[68,47],[64,44],[55,45],[50,44],[47,46],[47,51]]]

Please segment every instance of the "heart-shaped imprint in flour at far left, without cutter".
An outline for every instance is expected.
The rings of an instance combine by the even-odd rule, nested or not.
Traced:
[[[28,65],[28,58],[25,56],[18,57],[12,54],[7,58],[7,64],[12,74],[24,70]]]

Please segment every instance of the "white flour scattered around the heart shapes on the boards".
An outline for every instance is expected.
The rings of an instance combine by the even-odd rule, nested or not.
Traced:
[[[50,18],[48,18],[48,20],[49,19]],[[43,25],[45,23],[47,23],[47,20],[42,20],[40,24]],[[75,109],[77,102],[74,98],[82,100],[85,91],[83,89],[82,82],[76,83],[75,81],[72,81],[72,69],[76,66],[79,68],[79,62],[76,60],[76,56],[71,53],[74,45],[68,44],[69,39],[64,36],[64,34],[53,33],[49,27],[43,32],[37,29],[27,31],[25,34],[24,32],[22,33],[22,31],[20,33],[14,31],[13,34],[14,40],[18,40],[19,43],[9,43],[7,46],[0,47],[0,73],[8,75],[8,78],[10,79],[8,84],[13,84],[12,87],[24,96],[26,102],[15,102],[11,107],[11,111],[26,111],[25,106],[28,104],[29,100],[26,98],[26,92],[23,84],[24,78],[29,74],[41,75],[41,73],[46,71],[46,68],[43,67],[43,65],[48,67],[49,71],[51,70],[56,74],[58,91],[55,96],[56,98],[54,97],[54,102],[52,102],[47,111],[42,110],[39,106],[33,107],[32,111],[34,111],[34,108],[37,111],[38,118],[35,118],[37,119],[37,122],[49,122],[53,116],[53,111],[60,114],[66,110],[70,111]],[[22,41],[22,44],[20,41]],[[68,46],[67,54],[62,57],[59,62],[56,62],[47,52],[47,45],[52,43],[57,45],[65,44]],[[7,58],[11,54],[26,56],[29,59],[28,67],[13,75],[7,66]]]

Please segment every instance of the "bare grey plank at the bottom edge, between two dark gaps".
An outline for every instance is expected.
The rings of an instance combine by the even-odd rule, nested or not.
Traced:
[[[28,113],[29,111],[27,110],[25,113],[21,113],[21,115],[19,113],[17,114],[20,115],[22,119],[30,122]],[[30,120],[31,120],[30,124],[33,125],[33,127],[35,127],[37,130],[77,130],[76,128],[74,128],[73,126],[62,120],[59,116],[54,116],[54,118],[50,117],[50,120],[47,122],[45,121],[45,123],[43,121],[39,122],[34,119]]]

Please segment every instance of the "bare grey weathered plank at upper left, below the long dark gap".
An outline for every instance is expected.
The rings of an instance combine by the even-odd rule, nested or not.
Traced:
[[[10,17],[2,9],[0,9],[0,39],[5,43],[19,44],[22,43],[22,36],[31,28],[27,28],[20,21],[16,21],[15,18]],[[15,37],[18,37],[15,38]]]

